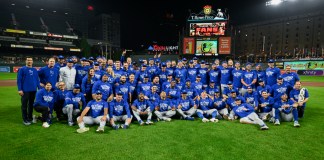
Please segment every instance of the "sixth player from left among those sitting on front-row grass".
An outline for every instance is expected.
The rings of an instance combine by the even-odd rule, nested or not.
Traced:
[[[196,103],[199,107],[199,109],[197,109],[197,115],[203,122],[218,122],[218,119],[216,119],[217,110],[214,108],[214,102],[207,96],[206,91],[201,92],[201,97],[196,100]],[[212,117],[210,120],[207,119],[209,116]]]

